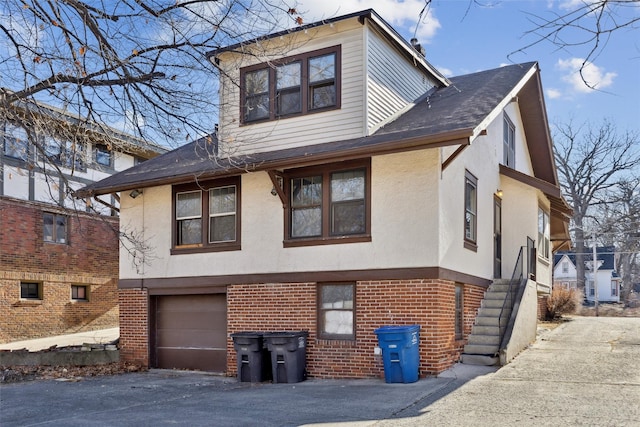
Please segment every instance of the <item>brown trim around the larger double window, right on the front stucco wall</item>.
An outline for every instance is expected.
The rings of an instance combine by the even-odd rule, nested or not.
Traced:
[[[361,234],[331,235],[330,234],[330,179],[334,172],[344,172],[356,169],[365,171],[365,231]],[[321,235],[314,237],[291,237],[291,179],[309,175],[322,175],[322,226]],[[315,245],[335,245],[341,243],[361,243],[371,241],[371,159],[353,160],[343,163],[309,168],[291,169],[283,174],[284,192],[287,197],[284,209],[284,242],[285,248]]]

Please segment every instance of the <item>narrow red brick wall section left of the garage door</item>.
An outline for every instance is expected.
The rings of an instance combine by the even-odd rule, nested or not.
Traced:
[[[149,297],[144,289],[120,289],[120,361],[149,366]]]

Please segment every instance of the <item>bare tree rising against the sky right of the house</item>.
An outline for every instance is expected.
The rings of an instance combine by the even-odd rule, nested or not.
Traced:
[[[604,120],[599,126],[556,124],[555,160],[564,196],[573,208],[578,287],[584,289],[585,238],[594,230],[596,210],[611,204],[611,192],[623,178],[638,173],[640,135],[618,133]],[[589,258],[586,258],[589,259]]]

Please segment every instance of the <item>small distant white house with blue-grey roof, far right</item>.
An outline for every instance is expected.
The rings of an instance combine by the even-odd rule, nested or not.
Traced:
[[[593,275],[593,256],[591,249],[585,256],[585,299],[589,302],[596,300],[596,286],[598,286],[599,302],[620,302],[620,276],[615,271],[614,246],[596,247],[596,275]],[[576,256],[571,251],[559,251],[553,258],[553,286],[563,288],[577,288]]]

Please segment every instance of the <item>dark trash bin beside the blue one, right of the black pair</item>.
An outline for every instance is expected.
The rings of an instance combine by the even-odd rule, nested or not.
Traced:
[[[274,383],[298,383],[306,377],[307,337],[309,332],[266,332],[264,339],[271,352]]]

